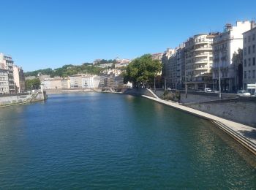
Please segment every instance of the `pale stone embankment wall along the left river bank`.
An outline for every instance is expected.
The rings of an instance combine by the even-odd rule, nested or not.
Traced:
[[[41,92],[37,94],[16,94],[9,96],[0,96],[0,107],[42,101],[45,99],[45,96],[46,94]]]

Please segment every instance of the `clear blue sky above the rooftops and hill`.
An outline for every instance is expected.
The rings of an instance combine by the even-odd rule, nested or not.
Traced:
[[[135,58],[252,20],[256,1],[0,0],[0,52],[24,71]]]

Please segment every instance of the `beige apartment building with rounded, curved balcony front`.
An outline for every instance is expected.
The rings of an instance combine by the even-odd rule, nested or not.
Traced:
[[[213,39],[216,34],[197,34],[185,42],[185,69],[190,90],[212,88]]]

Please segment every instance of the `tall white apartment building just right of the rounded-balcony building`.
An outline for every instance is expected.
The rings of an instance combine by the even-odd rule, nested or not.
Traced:
[[[243,33],[250,28],[251,22],[238,21],[236,26],[227,24],[225,31],[214,37],[214,89],[219,90],[220,77],[221,91],[236,92],[238,90],[235,81],[237,74],[236,66],[233,64],[233,55],[238,53],[239,48],[243,49]]]

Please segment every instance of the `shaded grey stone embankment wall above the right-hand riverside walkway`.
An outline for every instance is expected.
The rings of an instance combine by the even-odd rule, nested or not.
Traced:
[[[175,91],[172,91],[175,93]],[[162,96],[164,90],[157,90],[157,96]],[[205,113],[219,116],[230,121],[256,127],[256,96],[238,96],[236,94],[219,94],[188,91],[187,97],[181,91],[181,104]]]

